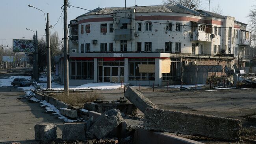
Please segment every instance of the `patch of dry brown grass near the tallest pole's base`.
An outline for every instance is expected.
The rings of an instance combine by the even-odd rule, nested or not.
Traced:
[[[83,107],[84,103],[93,102],[96,99],[104,99],[104,96],[99,95],[97,92],[69,93],[68,97],[65,94],[50,95],[67,104],[79,107]]]

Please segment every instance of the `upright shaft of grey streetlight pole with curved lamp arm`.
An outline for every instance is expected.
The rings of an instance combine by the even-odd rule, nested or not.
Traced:
[[[46,49],[47,49],[47,88],[51,88],[51,49],[49,34],[49,13],[47,13],[46,23]]]

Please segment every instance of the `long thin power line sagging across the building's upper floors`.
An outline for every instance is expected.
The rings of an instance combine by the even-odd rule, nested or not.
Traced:
[[[71,7],[75,7],[75,8],[78,8],[78,9],[83,9],[85,11],[92,11],[92,12],[95,12],[95,13],[100,13],[100,14],[105,14],[105,13],[101,13],[99,11],[93,11],[93,10],[89,10],[89,9],[84,9],[82,7],[76,7],[76,6],[73,6],[73,5],[69,5]],[[114,14],[105,14],[105,15],[109,15],[109,16],[115,16],[115,17],[119,17],[119,18],[126,18],[126,17],[123,17],[123,16],[116,16]],[[159,23],[159,24],[167,24],[167,23],[161,23],[161,22],[152,22],[152,21],[148,21],[148,20],[139,20],[139,19],[136,19],[136,18],[127,18],[127,19],[130,19],[130,20],[138,20],[138,21],[142,21],[142,22],[151,22],[151,23]],[[172,25],[176,25],[176,24],[172,24]],[[186,27],[193,27],[192,25],[181,25],[181,26],[186,26]],[[208,27],[210,28],[210,27]],[[212,26],[211,28],[214,28],[214,26]],[[232,28],[232,29],[237,29],[237,27],[219,27],[219,28]],[[243,29],[254,29],[255,27],[239,27],[240,29],[243,28]]]

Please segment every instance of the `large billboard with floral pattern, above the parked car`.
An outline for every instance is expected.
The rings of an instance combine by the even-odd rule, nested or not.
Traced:
[[[13,52],[34,52],[34,40],[13,39]]]

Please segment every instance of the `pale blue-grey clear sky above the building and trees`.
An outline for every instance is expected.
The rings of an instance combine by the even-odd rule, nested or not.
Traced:
[[[209,0],[201,0],[201,9],[209,11]],[[69,0],[70,5],[93,10],[97,7],[121,7],[125,5],[125,0]],[[126,6],[139,5],[161,5],[162,0],[126,0]],[[43,12],[28,7],[33,5],[46,13],[49,13],[50,25],[54,26],[61,16],[63,0],[1,0],[0,4],[0,45],[12,46],[12,39],[33,39],[33,32],[26,28],[38,32],[38,39],[45,34],[45,16]],[[252,5],[256,0],[211,0],[211,9],[220,4],[223,15],[233,16],[237,21],[249,23],[247,18]],[[69,20],[87,13],[88,11],[70,7],[67,10]],[[50,31],[57,31],[59,37],[64,37],[63,16]],[[23,38],[24,37],[24,38]]]

